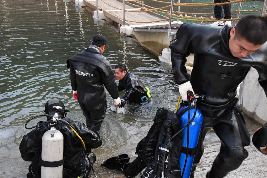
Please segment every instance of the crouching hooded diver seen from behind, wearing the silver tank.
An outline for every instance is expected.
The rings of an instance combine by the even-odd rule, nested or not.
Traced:
[[[26,122],[26,129],[35,129],[23,136],[19,145],[22,159],[32,161],[27,178],[40,178],[41,166],[57,167],[60,165],[63,165],[64,178],[87,178],[96,160],[95,154],[90,150],[102,144],[99,132],[89,130],[82,122],[66,118],[66,112],[69,111],[65,110],[61,100],[48,100],[44,112],[45,114],[38,116],[47,116],[47,121],[40,121],[35,127],[30,128],[27,124],[38,116]],[[58,115],[57,121],[54,117],[52,119],[54,115]],[[61,161],[47,162],[41,157],[42,137],[51,127],[55,127],[63,135],[63,159]],[[95,174],[94,170],[93,173]]]

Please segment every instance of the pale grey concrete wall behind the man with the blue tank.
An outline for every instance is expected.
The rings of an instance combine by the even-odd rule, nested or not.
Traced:
[[[240,85],[239,98],[245,114],[264,124],[267,121],[267,99],[258,77],[256,69],[251,68]]]

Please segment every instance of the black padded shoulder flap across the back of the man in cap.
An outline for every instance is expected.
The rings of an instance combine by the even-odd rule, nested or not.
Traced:
[[[90,57],[90,58],[87,58]],[[70,57],[68,60],[71,61],[77,61],[77,62],[84,62],[86,64],[91,64],[93,66],[99,67],[105,74],[106,77],[109,77],[109,68],[106,66],[106,64],[99,59],[83,54],[76,54],[75,56]],[[67,67],[69,68],[69,61],[67,60]]]

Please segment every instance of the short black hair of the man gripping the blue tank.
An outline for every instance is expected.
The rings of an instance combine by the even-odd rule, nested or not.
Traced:
[[[242,17],[235,26],[237,38],[247,40],[254,45],[262,45],[267,41],[267,18],[260,15]]]

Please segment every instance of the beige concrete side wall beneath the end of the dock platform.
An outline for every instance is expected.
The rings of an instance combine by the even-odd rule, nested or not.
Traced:
[[[170,46],[171,38],[167,38],[167,32],[133,32],[132,38],[138,40],[144,46],[161,54],[163,48]]]

